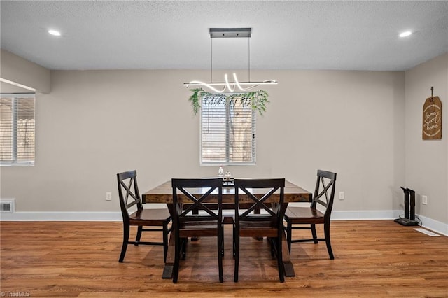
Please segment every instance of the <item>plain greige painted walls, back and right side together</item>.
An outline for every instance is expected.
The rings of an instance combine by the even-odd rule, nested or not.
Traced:
[[[283,176],[308,190],[316,169],[336,171],[345,200],[335,210],[349,218],[402,213],[405,185],[417,192],[417,213],[448,234],[447,138],[421,140],[430,86],[448,127],[448,54],[406,72],[251,76],[279,85],[265,88],[271,102],[257,120],[256,166],[225,170]],[[118,212],[120,171],[137,169],[141,191],[174,176],[215,176],[215,166],[199,163],[199,117],[182,85],[193,79],[208,80],[209,71],[52,71],[51,92],[36,96],[36,166],[2,167],[1,198],[15,198],[18,212]]]

